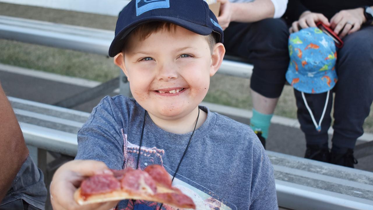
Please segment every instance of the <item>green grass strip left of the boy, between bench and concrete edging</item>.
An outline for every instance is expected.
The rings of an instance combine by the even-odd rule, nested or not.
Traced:
[[[112,58],[0,39],[0,63],[96,81],[119,75]]]

